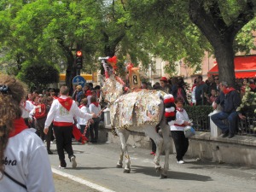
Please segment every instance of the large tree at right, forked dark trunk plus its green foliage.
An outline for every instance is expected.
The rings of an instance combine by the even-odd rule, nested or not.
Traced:
[[[185,58],[193,67],[200,62],[203,51],[212,51],[218,61],[220,79],[229,84],[235,84],[235,51],[255,48],[252,44],[248,46],[249,38],[242,40],[242,35],[237,39],[239,44],[235,41],[242,27],[253,20],[255,1],[131,0],[124,4],[137,28],[155,34],[151,53],[171,64]],[[247,26],[246,31],[252,32],[252,26]]]

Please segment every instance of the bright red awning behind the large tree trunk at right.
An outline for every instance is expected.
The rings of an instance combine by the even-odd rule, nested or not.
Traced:
[[[256,78],[256,55],[236,56],[234,59],[236,78]],[[218,64],[208,72],[218,75]]]

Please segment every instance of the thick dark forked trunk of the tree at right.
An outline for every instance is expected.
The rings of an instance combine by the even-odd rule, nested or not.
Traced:
[[[212,44],[218,62],[220,81],[226,81],[231,86],[236,84],[233,41],[237,32],[253,19],[253,8],[253,2],[247,0],[241,7],[240,14],[227,24],[218,1],[210,0],[206,3],[201,0],[189,0],[190,20]]]

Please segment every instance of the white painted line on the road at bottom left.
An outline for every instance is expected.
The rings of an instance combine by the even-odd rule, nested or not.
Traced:
[[[76,176],[73,176],[73,175],[70,175],[66,172],[61,172],[60,170],[57,170],[55,168],[51,168],[51,171],[54,172],[55,174],[58,174],[62,177],[67,177],[75,182],[78,182],[78,183],[81,183],[81,184],[84,184],[92,189],[96,189],[96,190],[99,190],[101,192],[115,192],[114,190],[111,190],[111,189],[107,189],[107,188],[104,188],[96,183],[91,183],[90,181],[87,181],[85,179],[82,179],[80,177],[76,177]]]

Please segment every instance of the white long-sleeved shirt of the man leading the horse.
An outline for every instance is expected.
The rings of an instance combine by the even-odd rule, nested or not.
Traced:
[[[66,99],[67,96],[60,96],[60,98]],[[92,118],[92,114],[80,111],[78,105],[74,101],[70,110],[67,111],[66,108],[63,108],[59,100],[55,99],[51,104],[49,113],[47,114],[44,127],[49,127],[53,120],[55,122],[74,123],[74,117],[80,117],[89,120]]]

